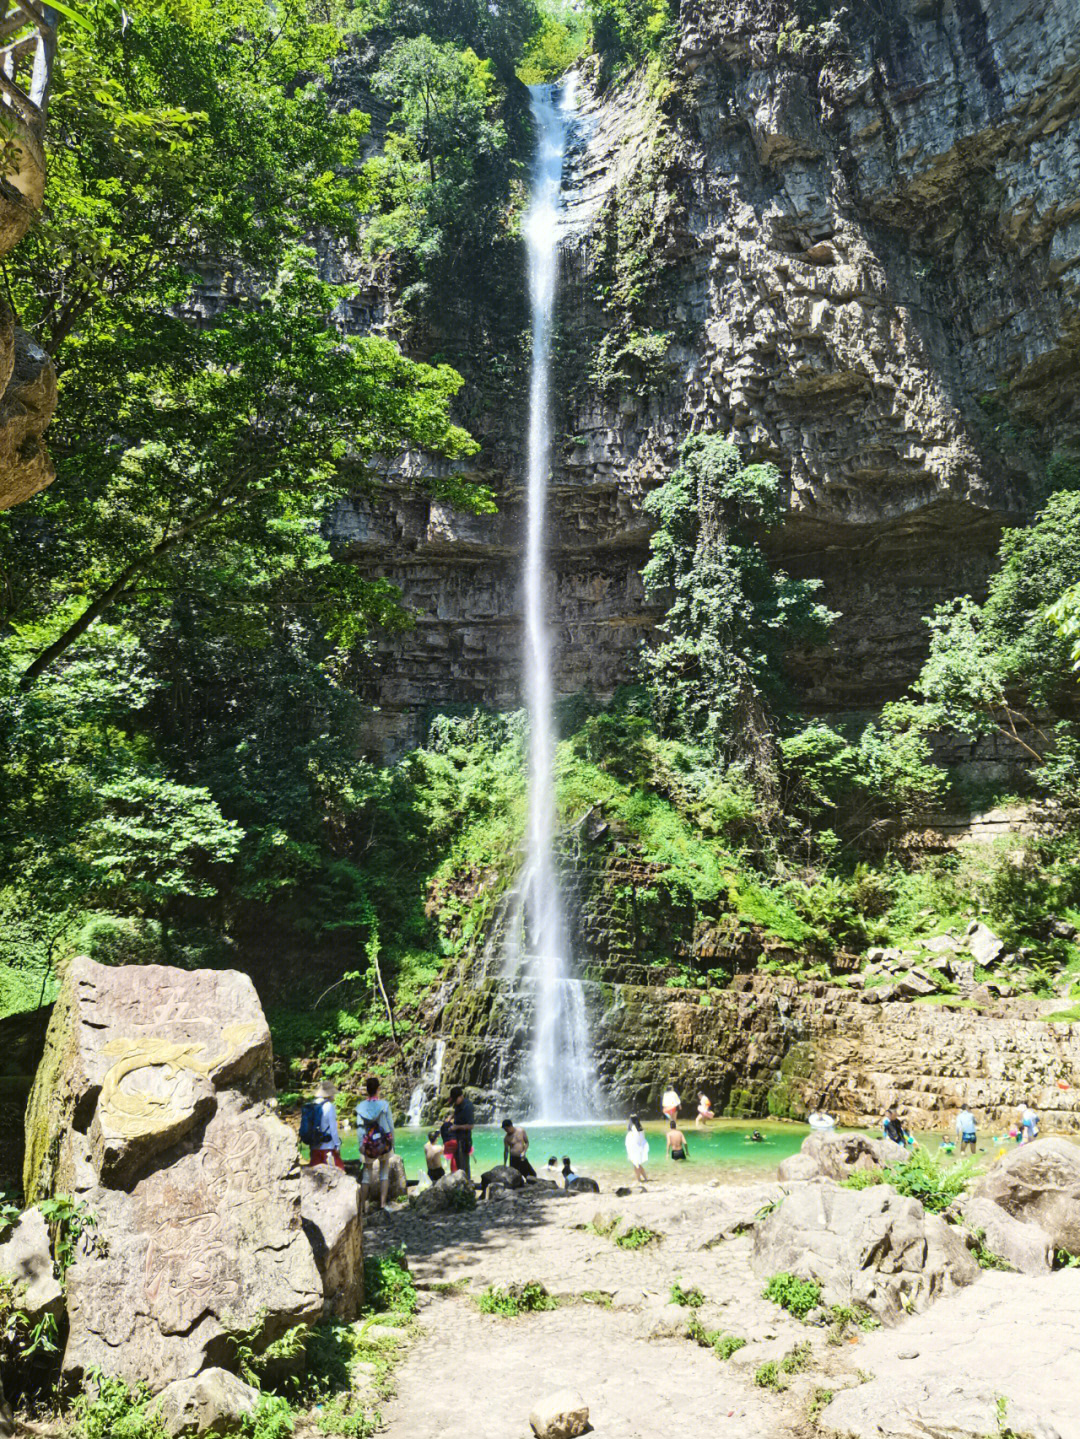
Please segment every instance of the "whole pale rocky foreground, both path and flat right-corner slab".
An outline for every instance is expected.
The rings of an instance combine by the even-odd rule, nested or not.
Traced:
[[[388,1213],[370,1227],[368,1250],[404,1245],[421,1298],[394,1396],[381,1407],[384,1432],[526,1439],[534,1406],[569,1389],[588,1404],[595,1433],[618,1439],[713,1439],[725,1425],[741,1439],[1080,1439],[1080,1394],[1068,1380],[1080,1373],[1080,1269],[982,1272],[965,1255],[972,1268],[953,1263],[956,1284],[949,1262],[939,1263],[941,1297],[926,1298],[922,1314],[870,1333],[820,1311],[804,1322],[762,1297],[761,1230],[785,1191],[805,1196],[810,1186],[657,1184],[617,1199],[528,1193],[473,1213]],[[866,1199],[828,1181],[825,1191]],[[620,1248],[613,1235],[631,1227],[660,1238]],[[903,1259],[899,1243],[889,1259],[896,1235],[893,1225],[877,1243],[883,1272],[925,1261],[926,1245]],[[489,1285],[529,1281],[558,1308],[512,1318],[479,1311]],[[673,1304],[676,1282],[697,1288],[702,1305]],[[745,1344],[725,1360],[693,1330]]]

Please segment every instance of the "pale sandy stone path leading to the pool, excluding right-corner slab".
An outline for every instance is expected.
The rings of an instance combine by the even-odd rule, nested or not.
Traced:
[[[571,1387],[590,1406],[597,1435],[739,1439],[810,1432],[807,1410],[821,1387],[859,1383],[847,1353],[761,1298],[739,1230],[781,1190],[683,1187],[674,1193],[536,1194],[480,1206],[475,1215],[387,1217],[371,1248],[404,1243],[421,1289],[421,1337],[397,1367],[395,1397],[383,1406],[391,1439],[526,1439],[544,1394]],[[620,1219],[662,1238],[640,1249],[584,1226]],[[705,1302],[670,1302],[672,1285],[696,1286]],[[516,1318],[480,1314],[488,1286],[541,1281],[554,1311]],[[450,1286],[454,1288],[450,1288]],[[729,1360],[687,1340],[692,1317],[746,1344]],[[807,1370],[781,1376],[782,1392],[755,1384],[761,1364],[810,1344]],[[667,1392],[676,1397],[666,1399]]]

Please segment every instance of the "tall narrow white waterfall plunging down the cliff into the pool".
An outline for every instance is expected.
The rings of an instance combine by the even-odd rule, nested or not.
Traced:
[[[569,934],[555,868],[555,725],[546,623],[546,507],[551,471],[551,341],[558,279],[562,158],[575,78],[529,86],[536,130],[525,242],[532,309],[525,543],[525,701],[529,714],[529,816],[521,875],[521,927],[511,925],[508,967],[523,961],[535,993],[531,1111],[548,1122],[595,1114],[588,1016],[571,973]]]

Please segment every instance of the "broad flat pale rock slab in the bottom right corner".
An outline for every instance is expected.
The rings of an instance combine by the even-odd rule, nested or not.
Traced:
[[[985,1274],[903,1328],[863,1335],[870,1377],[838,1393],[818,1426],[851,1439],[1076,1439],[1077,1333],[1080,1269]]]

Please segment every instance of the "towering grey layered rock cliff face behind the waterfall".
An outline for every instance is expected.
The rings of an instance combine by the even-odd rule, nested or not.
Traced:
[[[693,429],[790,478],[777,554],[843,616],[791,662],[827,709],[907,684],[922,616],[978,593],[1001,525],[1080,436],[1073,0],[794,16],[685,0],[662,94],[582,76],[549,538],[562,692],[628,675],[654,617],[640,498]],[[420,614],[383,646],[381,743],[416,738],[430,705],[516,702],[523,384],[485,397],[496,350],[521,373],[521,322],[489,315],[456,357],[500,514],[401,489],[388,519],[339,517]]]

